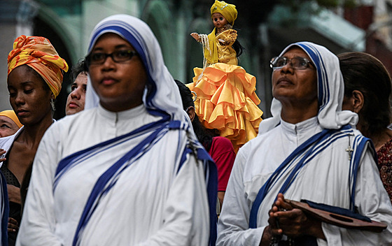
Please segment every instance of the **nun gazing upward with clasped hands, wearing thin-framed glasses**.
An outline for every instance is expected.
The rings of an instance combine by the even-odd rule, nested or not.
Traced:
[[[391,245],[391,202],[374,147],[354,127],[358,116],[342,111],[337,57],[293,43],[271,67],[272,117],[237,154],[217,245]],[[321,222],[289,203],[302,199],[388,227],[375,233]]]

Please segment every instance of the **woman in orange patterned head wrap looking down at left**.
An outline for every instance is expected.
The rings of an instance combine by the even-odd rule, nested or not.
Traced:
[[[29,177],[27,170],[31,168],[43,133],[54,122],[53,100],[60,92],[63,72],[66,71],[66,61],[59,57],[47,38],[19,36],[8,55],[10,104],[24,125],[13,136],[0,138],[0,149],[6,150],[1,156],[6,160],[0,162],[0,170],[8,184],[8,245],[15,245],[23,199],[20,194],[26,191],[22,189],[23,180]]]

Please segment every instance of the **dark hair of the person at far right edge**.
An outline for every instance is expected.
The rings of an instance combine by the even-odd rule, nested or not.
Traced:
[[[364,136],[377,136],[391,122],[391,76],[376,57],[363,52],[338,55],[344,78],[344,96],[362,92],[363,108],[358,113]]]

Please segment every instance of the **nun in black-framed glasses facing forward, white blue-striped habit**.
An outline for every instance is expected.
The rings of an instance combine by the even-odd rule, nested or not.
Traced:
[[[18,245],[214,245],[216,166],[151,29],[107,17],[86,61],[87,109],[43,136]]]

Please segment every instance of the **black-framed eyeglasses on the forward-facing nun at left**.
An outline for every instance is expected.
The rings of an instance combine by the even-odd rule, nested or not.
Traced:
[[[110,54],[106,54],[104,52],[92,52],[86,57],[86,61],[90,65],[101,65],[104,64],[108,57],[111,57],[114,62],[120,63],[129,61],[135,55],[137,55],[137,52],[134,50],[116,50]]]

